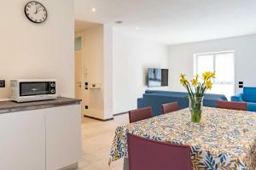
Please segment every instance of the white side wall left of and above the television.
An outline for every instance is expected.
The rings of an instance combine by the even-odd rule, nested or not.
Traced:
[[[113,31],[113,114],[137,109],[146,87],[148,68],[168,67],[164,45]]]

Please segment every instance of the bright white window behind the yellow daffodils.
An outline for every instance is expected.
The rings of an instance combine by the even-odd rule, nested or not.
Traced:
[[[234,51],[195,54],[194,74],[204,71],[214,71],[211,94],[224,94],[228,99],[235,92],[235,61]]]

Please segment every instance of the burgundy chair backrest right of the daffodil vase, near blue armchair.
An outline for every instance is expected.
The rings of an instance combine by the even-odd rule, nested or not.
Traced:
[[[246,102],[235,102],[235,101],[217,101],[217,107],[222,109],[238,110],[238,111],[247,111]]]

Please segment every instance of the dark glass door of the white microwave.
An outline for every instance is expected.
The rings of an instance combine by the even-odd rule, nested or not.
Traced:
[[[20,96],[50,94],[49,82],[20,82]]]

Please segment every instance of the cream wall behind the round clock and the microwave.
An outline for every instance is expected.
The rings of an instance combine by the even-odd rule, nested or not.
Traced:
[[[7,88],[0,98],[9,98],[9,80],[17,78],[56,78],[59,94],[73,97],[73,1],[42,1],[49,14],[44,24],[26,19],[27,2],[1,2],[0,79]]]

